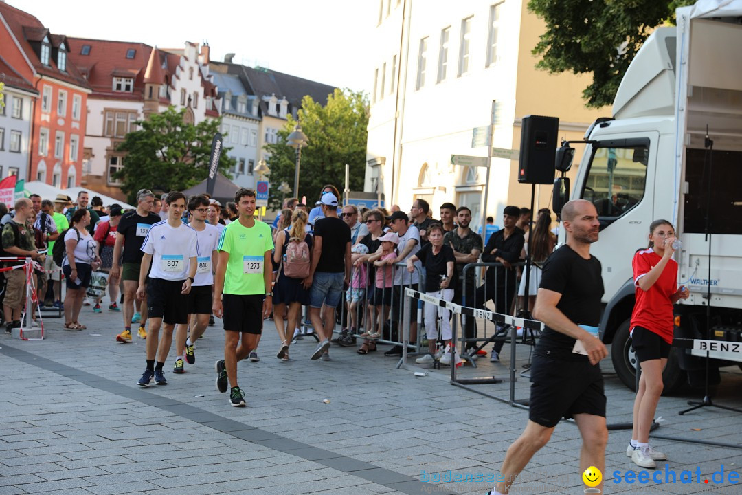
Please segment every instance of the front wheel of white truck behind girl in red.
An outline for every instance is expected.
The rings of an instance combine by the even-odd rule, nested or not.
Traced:
[[[636,355],[634,355],[634,350],[631,349],[631,335],[628,333],[630,324],[631,320],[627,319],[616,330],[616,334],[613,337],[613,344],[611,345],[611,361],[613,361],[613,367],[616,370],[618,378],[623,381],[623,384],[629,390],[636,392],[635,384],[639,362]],[[674,347],[670,350],[667,365],[662,373],[664,382],[663,396],[672,393],[677,387],[686,383],[686,372],[680,370],[680,366],[677,363],[677,355],[675,354],[677,352],[678,350]]]

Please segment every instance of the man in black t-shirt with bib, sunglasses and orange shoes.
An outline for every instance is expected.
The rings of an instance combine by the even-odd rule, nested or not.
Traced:
[[[147,338],[145,321],[147,321],[147,301],[141,301],[141,314],[134,318],[134,299],[137,297],[139,286],[139,267],[142,264],[142,243],[151,226],[160,222],[160,215],[152,213],[154,208],[154,194],[149,189],[140,189],[137,192],[137,209],[126,212],[119,220],[114,244],[114,262],[111,265],[111,277],[119,278],[124,283],[124,331],[116,335],[118,342],[131,342],[131,323],[139,324],[139,338]],[[121,250],[123,248],[123,256]],[[123,266],[121,266],[121,264]]]

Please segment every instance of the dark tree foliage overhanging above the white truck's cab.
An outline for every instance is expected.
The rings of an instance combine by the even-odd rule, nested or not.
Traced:
[[[592,73],[582,96],[588,107],[611,105],[626,68],[654,30],[674,22],[674,10],[695,0],[530,0],[546,22],[533,48],[537,68]]]

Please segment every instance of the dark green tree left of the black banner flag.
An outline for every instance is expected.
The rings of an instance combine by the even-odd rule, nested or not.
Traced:
[[[139,131],[126,134],[119,150],[127,151],[124,167],[116,173],[122,181],[121,190],[128,202],[135,204],[137,191],[142,188],[162,191],[183,191],[209,176],[211,140],[219,132],[221,119],[206,119],[197,125],[185,124],[185,109],[169,107],[162,114],[152,114],[137,122]],[[226,140],[225,140],[226,141]],[[219,171],[230,177],[234,158],[227,157],[223,148]]]

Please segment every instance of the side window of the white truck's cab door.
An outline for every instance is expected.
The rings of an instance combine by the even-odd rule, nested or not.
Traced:
[[[618,218],[644,197],[649,144],[593,147],[582,199],[600,217]]]

